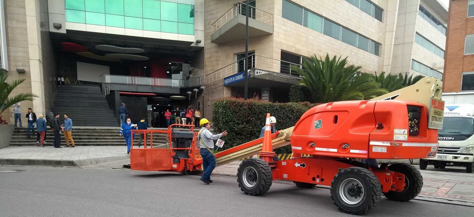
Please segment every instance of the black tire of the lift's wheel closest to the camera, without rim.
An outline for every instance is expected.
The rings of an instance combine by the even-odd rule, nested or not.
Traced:
[[[347,179],[359,181],[364,188],[364,191],[361,192],[363,199],[354,205],[344,202],[339,195],[340,185]],[[349,167],[339,171],[331,181],[329,191],[334,205],[342,212],[352,215],[361,215],[368,212],[377,206],[377,203],[382,197],[382,187],[377,176],[362,167]]]

